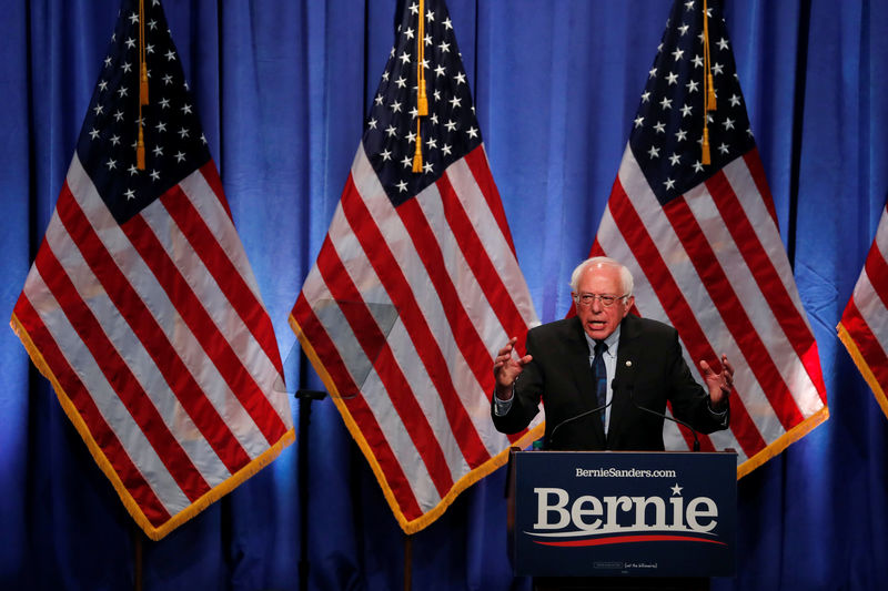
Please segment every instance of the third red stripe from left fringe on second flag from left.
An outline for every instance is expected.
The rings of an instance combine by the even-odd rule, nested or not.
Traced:
[[[425,316],[413,295],[414,286],[402,273],[398,261],[389,248],[386,237],[383,236],[374,223],[366,204],[352,183],[351,176],[343,192],[341,203],[345,218],[363,246],[389,297],[397,308],[398,318],[413,342],[413,348],[416,350],[423,367],[425,367],[435,390],[437,390],[441,406],[447,417],[447,424],[466,463],[473,469],[477,468],[491,459],[487,448],[484,447],[475,426],[472,424],[472,419],[468,417],[465,407],[463,407],[460,395],[456,394],[450,369],[445,364],[441,363],[444,354],[441,351],[437,339],[428,327],[428,323],[426,323]],[[389,238],[395,238],[395,236],[389,236]],[[416,288],[427,289],[428,285],[423,282]],[[441,448],[438,447],[438,449]]]

